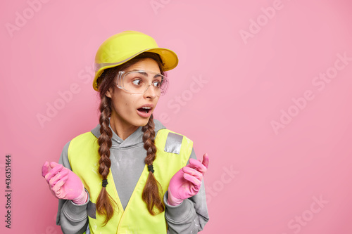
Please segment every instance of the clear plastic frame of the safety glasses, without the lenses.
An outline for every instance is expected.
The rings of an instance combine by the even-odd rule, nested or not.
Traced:
[[[166,91],[168,90],[168,84],[169,84],[169,79],[168,77],[166,77],[165,75],[161,74],[161,73],[158,73],[158,72],[151,72],[151,71],[147,71],[147,70],[132,70],[132,71],[120,71],[118,72],[118,81],[116,83],[116,86],[119,88],[119,89],[123,89],[124,91],[126,91],[127,93],[136,93],[136,92],[133,92],[133,91],[129,91],[127,89],[125,89],[125,86],[123,86],[123,79],[125,78],[125,76],[127,74],[130,74],[130,73],[141,73],[141,72],[145,72],[148,74],[148,77],[149,77],[149,74],[158,74],[159,76],[161,76],[161,83],[163,83],[163,86],[165,86],[164,89],[161,89],[161,88],[158,88],[156,86],[153,86],[154,89],[159,89],[161,91],[161,96],[163,96]],[[164,84],[165,83],[165,84]],[[136,94],[142,94],[142,93],[145,93],[149,87],[153,85],[153,82],[151,82],[148,86],[146,86],[146,89],[141,92],[141,93],[136,93]]]

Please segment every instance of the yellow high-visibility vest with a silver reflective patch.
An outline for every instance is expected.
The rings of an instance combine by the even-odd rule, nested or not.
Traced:
[[[193,147],[193,142],[186,136],[175,134],[168,129],[161,129],[155,138],[157,148],[156,160],[153,162],[154,176],[163,188],[163,194],[168,190],[170,179],[187,164]],[[70,142],[68,160],[72,171],[77,174],[90,195],[89,208],[94,207],[101,190],[102,178],[99,174],[99,144],[98,138],[87,132],[81,134]],[[118,204],[113,217],[103,226],[106,216],[99,215],[96,210],[92,214],[89,209],[89,230],[91,233],[139,233],[156,234],[166,233],[167,223],[165,212],[152,216],[149,214],[146,203],[142,200],[142,191],[146,184],[149,171],[145,166],[139,177],[130,200],[123,210],[122,204],[115,188],[113,176],[108,174],[108,194]],[[164,204],[165,205],[165,204]],[[93,209],[94,210],[94,209]]]

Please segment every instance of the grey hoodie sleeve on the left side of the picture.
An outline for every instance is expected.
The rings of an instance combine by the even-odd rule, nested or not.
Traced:
[[[63,147],[63,152],[61,153],[59,164],[63,164],[63,167],[66,167],[70,170],[70,162],[68,161],[68,142]],[[90,200],[89,193],[87,202],[84,204],[75,204],[71,200],[58,200],[58,214],[56,215],[56,225],[61,226],[61,230],[64,234],[71,233],[84,233],[88,225],[88,216],[87,216],[87,204]]]

